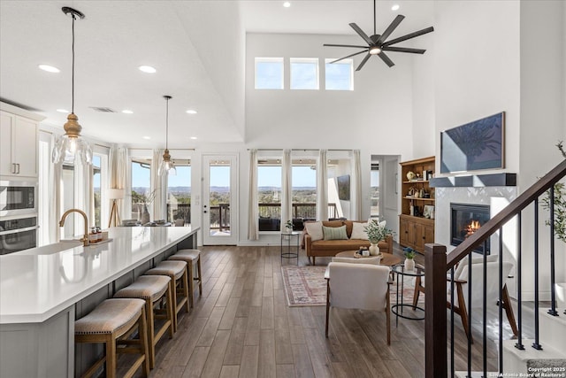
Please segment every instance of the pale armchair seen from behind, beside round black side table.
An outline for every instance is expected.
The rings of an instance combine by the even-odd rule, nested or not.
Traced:
[[[389,303],[389,266],[331,262],[326,282],[326,327],[330,306],[385,311],[387,345],[391,344],[391,310]]]

